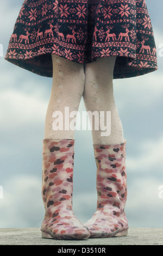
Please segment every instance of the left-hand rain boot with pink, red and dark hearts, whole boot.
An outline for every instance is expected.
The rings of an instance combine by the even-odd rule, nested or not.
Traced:
[[[87,227],[72,210],[74,139],[43,139],[42,198],[45,218],[42,237],[87,239]]]

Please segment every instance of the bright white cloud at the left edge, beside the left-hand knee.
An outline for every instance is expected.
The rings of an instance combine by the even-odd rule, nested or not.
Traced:
[[[34,94],[3,90],[0,95],[1,129],[15,130],[29,124],[39,124],[46,114],[47,102]]]

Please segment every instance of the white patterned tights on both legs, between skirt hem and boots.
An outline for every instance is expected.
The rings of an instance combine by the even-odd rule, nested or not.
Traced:
[[[103,132],[101,127],[95,130],[93,125],[93,144],[109,145],[124,142],[123,127],[116,108],[112,86],[115,59],[116,57],[97,58],[96,62],[83,65],[52,54],[53,83],[46,113],[45,138],[74,139],[75,130],[64,129],[65,107],[69,107],[69,113],[78,111],[83,96],[86,111],[111,112],[110,135],[101,136]],[[62,130],[55,128],[54,120],[57,115],[54,117],[54,111],[60,111],[63,114]],[[72,119],[74,120],[74,117],[69,118],[69,121],[71,122]]]

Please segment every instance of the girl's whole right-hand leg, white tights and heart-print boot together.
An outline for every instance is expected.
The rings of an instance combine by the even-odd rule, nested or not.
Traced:
[[[101,136],[92,129],[97,166],[97,209],[85,223],[90,237],[127,235],[128,221],[124,212],[127,199],[126,140],[115,105],[112,79],[115,57],[97,58],[85,65],[83,99],[87,111],[111,111],[111,133]],[[101,116],[100,116],[101,117]],[[93,123],[93,122],[92,122]]]

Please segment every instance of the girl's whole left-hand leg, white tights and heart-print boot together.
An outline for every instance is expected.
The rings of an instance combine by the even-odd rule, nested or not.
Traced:
[[[42,199],[45,218],[42,237],[53,239],[86,239],[87,227],[72,210],[74,130],[65,129],[65,107],[78,111],[84,90],[84,65],[52,55],[53,84],[46,114],[42,153]],[[64,127],[53,129],[53,112],[60,111]],[[68,117],[69,118],[69,117]],[[63,119],[63,120],[62,120]],[[71,121],[71,120],[69,120]]]

